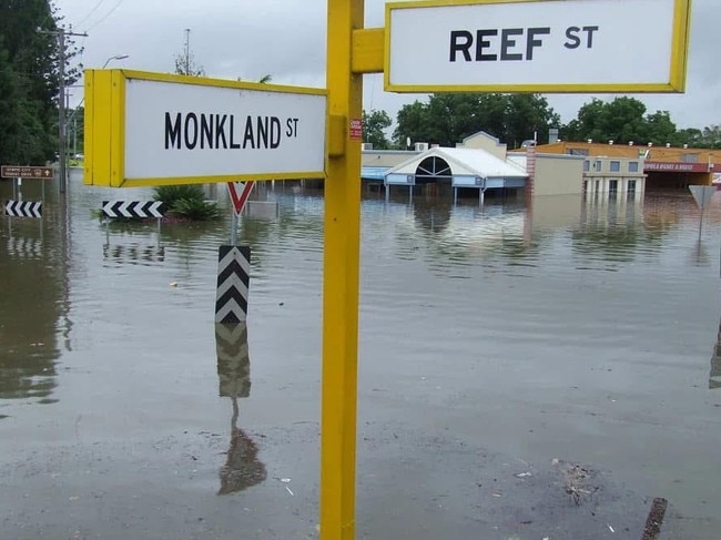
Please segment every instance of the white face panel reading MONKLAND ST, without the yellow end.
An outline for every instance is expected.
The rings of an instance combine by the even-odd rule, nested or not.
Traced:
[[[125,81],[123,181],[324,176],[322,92]]]

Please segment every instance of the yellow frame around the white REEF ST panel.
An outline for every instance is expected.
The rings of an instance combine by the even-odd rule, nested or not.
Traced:
[[[491,3],[548,2],[549,0],[414,0],[386,3],[383,80],[386,92],[538,92],[538,93],[682,93],[689,57],[691,0],[674,0],[673,40],[671,43],[670,80],[658,84],[392,84],[390,83],[390,13],[400,9],[447,8]]]

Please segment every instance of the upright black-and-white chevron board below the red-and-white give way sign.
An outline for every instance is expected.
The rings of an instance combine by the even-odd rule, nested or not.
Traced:
[[[215,323],[241,323],[247,315],[251,275],[248,246],[220,246],[217,251],[217,291]]]

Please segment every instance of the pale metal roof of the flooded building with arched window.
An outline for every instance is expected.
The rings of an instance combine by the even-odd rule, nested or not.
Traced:
[[[418,165],[426,159],[437,156],[448,163],[453,174],[476,175],[480,177],[525,179],[525,167],[504,161],[480,149],[429,149],[410,160],[387,171],[388,173],[415,174]]]

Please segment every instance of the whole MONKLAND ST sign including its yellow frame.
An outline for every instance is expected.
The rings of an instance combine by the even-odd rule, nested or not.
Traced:
[[[85,184],[325,177],[325,90],[85,71]]]

